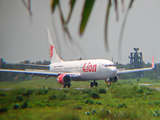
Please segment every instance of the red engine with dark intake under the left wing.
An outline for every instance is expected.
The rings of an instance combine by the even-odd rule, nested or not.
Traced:
[[[71,76],[67,74],[61,74],[58,76],[57,81],[60,84],[68,84],[71,82]]]

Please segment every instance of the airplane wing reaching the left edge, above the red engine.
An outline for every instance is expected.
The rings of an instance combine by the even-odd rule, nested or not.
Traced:
[[[38,76],[58,76],[60,72],[52,72],[50,70],[40,70],[40,69],[25,69],[25,70],[15,70],[15,69],[0,69],[0,72],[13,72],[13,73],[24,73],[24,74],[31,74],[31,75],[38,75]],[[78,73],[65,73],[70,75],[71,77],[80,77]]]

